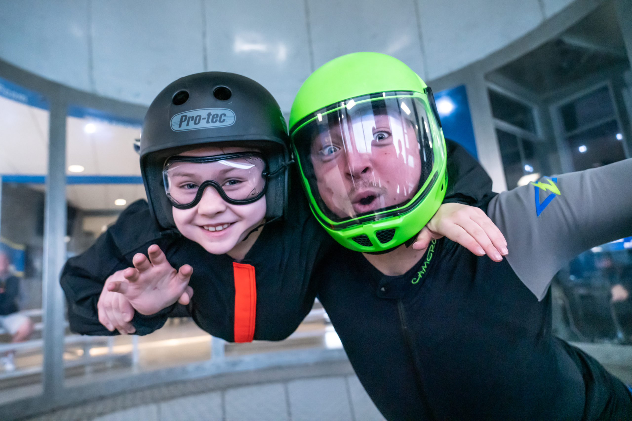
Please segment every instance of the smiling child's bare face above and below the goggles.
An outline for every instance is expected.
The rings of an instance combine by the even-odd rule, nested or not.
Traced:
[[[249,148],[206,146],[180,153],[190,157],[209,157],[224,153],[256,151]],[[208,186],[200,202],[189,209],[172,207],[173,219],[182,235],[212,254],[229,253],[246,235],[264,222],[265,195],[247,205],[233,205]],[[248,247],[250,248],[250,247]],[[230,254],[230,253],[229,253]]]

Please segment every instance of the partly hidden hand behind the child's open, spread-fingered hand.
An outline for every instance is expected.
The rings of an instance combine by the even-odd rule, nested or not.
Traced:
[[[107,284],[112,281],[125,281],[123,270],[112,273],[107,278],[105,285],[103,285],[103,290],[97,303],[99,321],[111,332],[117,329],[121,335],[134,333],[136,328],[130,323],[134,317],[134,307],[131,306],[123,294],[107,290]]]

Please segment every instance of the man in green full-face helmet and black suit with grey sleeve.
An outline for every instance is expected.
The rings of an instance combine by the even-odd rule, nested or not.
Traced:
[[[549,292],[576,254],[632,234],[632,160],[494,196],[504,261],[445,238],[416,250],[410,220],[445,189],[440,124],[425,83],[377,53],[328,62],[292,107],[312,211],[345,246],[317,269],[319,298],[369,396],[389,420],[632,418],[626,386],[552,336]]]

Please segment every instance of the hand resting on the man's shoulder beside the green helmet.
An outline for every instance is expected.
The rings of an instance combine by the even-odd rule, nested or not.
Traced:
[[[447,237],[477,256],[487,254],[493,261],[501,261],[507,251],[507,241],[501,230],[485,212],[461,203],[444,203],[430,222],[417,235],[413,249],[428,247],[432,239]]]

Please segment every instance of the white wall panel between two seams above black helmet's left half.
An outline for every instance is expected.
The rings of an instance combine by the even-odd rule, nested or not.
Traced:
[[[204,71],[200,0],[93,0],[94,80],[101,95],[150,104]]]

